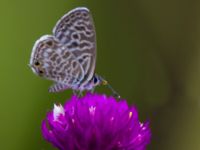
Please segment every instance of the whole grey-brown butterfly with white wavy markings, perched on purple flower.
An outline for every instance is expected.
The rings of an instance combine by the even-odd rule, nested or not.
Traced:
[[[101,84],[111,88],[95,73],[95,65],[96,32],[90,11],[85,7],[69,11],[58,20],[52,35],[40,37],[33,46],[29,63],[36,75],[55,82],[49,92],[90,91]]]

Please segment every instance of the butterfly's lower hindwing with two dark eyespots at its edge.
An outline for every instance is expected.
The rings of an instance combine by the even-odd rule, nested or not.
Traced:
[[[34,73],[71,88],[84,77],[81,65],[72,52],[51,35],[36,41],[30,59]]]

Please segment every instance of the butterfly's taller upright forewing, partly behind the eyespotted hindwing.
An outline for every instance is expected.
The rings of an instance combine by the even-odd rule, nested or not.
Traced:
[[[96,33],[87,8],[76,8],[64,15],[53,29],[53,35],[71,52],[84,71],[80,84],[87,84],[96,64]]]

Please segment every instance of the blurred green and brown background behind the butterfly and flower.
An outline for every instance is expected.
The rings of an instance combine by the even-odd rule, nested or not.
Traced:
[[[148,149],[200,149],[199,0],[1,0],[0,149],[53,149],[41,120],[72,91],[48,93],[27,64],[35,40],[77,6],[94,17],[96,72],[151,121]]]

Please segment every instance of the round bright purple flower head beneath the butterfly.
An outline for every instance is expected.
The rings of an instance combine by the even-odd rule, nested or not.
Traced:
[[[54,105],[42,134],[59,150],[145,150],[151,138],[135,107],[98,94],[72,96],[64,107]]]

